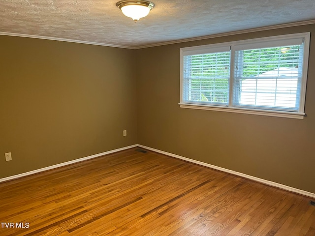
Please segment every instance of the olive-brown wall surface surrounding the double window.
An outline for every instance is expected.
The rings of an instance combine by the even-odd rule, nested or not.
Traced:
[[[303,120],[180,108],[180,48],[311,31]],[[137,50],[138,143],[315,193],[315,25]]]

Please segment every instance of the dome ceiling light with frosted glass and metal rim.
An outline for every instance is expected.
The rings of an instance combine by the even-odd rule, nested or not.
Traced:
[[[116,6],[122,10],[125,16],[131,17],[137,22],[140,18],[145,17],[154,7],[151,1],[119,1]]]

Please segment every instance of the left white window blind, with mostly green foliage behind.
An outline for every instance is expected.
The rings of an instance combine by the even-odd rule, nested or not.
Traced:
[[[183,100],[227,105],[229,99],[230,50],[183,57]]]

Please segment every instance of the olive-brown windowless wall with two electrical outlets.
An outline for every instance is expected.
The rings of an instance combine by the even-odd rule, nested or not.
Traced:
[[[134,50],[11,36],[0,48],[0,178],[137,143]]]

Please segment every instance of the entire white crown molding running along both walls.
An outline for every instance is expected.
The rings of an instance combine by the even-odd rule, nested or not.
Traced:
[[[174,41],[167,41],[167,42],[156,43],[156,44],[147,44],[147,45],[136,46],[136,47],[107,44],[107,43],[89,42],[89,41],[81,41],[81,40],[75,40],[75,39],[31,35],[31,34],[23,34],[23,33],[0,32],[0,35],[25,37],[25,38],[47,39],[47,40],[64,41],[64,42],[71,42],[71,43],[83,43],[83,44],[99,45],[99,46],[106,46],[106,47],[115,47],[115,48],[142,49],[142,48],[151,48],[151,47],[157,47],[157,46],[163,46],[163,45],[169,45],[169,44],[175,44],[175,43],[185,43],[185,42],[191,42],[191,41],[197,41],[197,40],[203,40],[203,39],[218,38],[218,37],[230,36],[230,35],[235,35],[235,34],[252,33],[252,32],[258,32],[258,31],[264,31],[264,30],[270,30],[270,29],[281,29],[281,28],[286,28],[286,27],[304,26],[304,25],[312,25],[312,24],[315,24],[315,20],[299,21],[299,22],[286,23],[286,24],[281,24],[281,25],[237,30],[237,31],[231,31],[231,32],[226,32],[226,33],[217,33],[217,34],[211,34],[211,35],[207,35],[207,36],[187,38],[187,39],[174,40]]]

